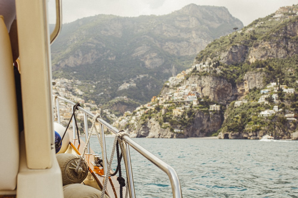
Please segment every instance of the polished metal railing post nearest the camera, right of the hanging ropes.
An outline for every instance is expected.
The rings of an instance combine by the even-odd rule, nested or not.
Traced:
[[[125,142],[125,140],[122,140],[123,145],[123,158],[125,163],[125,170],[126,170],[126,176],[128,181],[128,188],[126,187],[126,190],[129,190],[129,194],[131,198],[135,198],[135,190],[134,190],[134,178],[132,175],[132,168],[131,168],[131,159],[130,159],[130,152],[129,152],[129,145]]]

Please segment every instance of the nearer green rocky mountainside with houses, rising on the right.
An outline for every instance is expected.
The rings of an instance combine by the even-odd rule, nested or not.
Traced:
[[[298,5],[215,39],[159,95],[114,122],[131,137],[297,139]]]

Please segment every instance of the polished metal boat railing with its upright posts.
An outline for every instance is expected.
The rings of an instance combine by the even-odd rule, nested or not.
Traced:
[[[65,99],[61,96],[55,95],[55,108],[57,111],[57,117],[58,117],[58,123],[61,123],[60,121],[60,108],[59,108],[59,101],[64,101],[66,103],[71,104],[72,106],[75,105],[74,102]],[[93,118],[94,114],[91,112],[85,110],[84,108],[78,106],[78,109],[83,112],[84,115],[84,130],[85,130],[85,138],[86,140],[88,139],[88,136],[91,135],[88,132],[88,124],[87,124],[87,118],[88,116]],[[105,146],[105,135],[104,135],[104,127],[106,127],[109,131],[111,131],[113,134],[117,134],[119,132],[118,129],[115,127],[111,126],[109,123],[104,121],[101,118],[97,118],[97,121],[99,122],[100,125],[100,143],[101,143],[101,151],[102,151],[102,158],[103,158],[103,169],[104,169],[104,175],[108,175],[108,158],[106,154],[106,146]],[[75,123],[74,117],[72,118],[72,123]],[[76,138],[76,131],[75,131],[75,124],[72,124],[72,129],[73,129],[73,137]],[[173,197],[180,198],[182,197],[182,192],[181,192],[181,186],[180,186],[180,181],[178,178],[178,175],[176,171],[174,170],[173,167],[147,151],[145,148],[137,144],[134,140],[132,140],[128,136],[123,136],[122,137],[122,144],[123,144],[123,158],[124,158],[124,163],[125,163],[125,169],[126,169],[126,174],[127,174],[127,179],[128,179],[128,190],[130,193],[130,197],[135,198],[135,189],[134,189],[134,180],[133,180],[133,172],[132,172],[132,167],[131,167],[131,158],[130,158],[130,152],[129,152],[129,146],[136,150],[138,153],[140,153],[142,156],[144,156],[146,159],[151,161],[153,164],[155,164],[159,169],[164,171],[171,183],[172,187],[172,193]],[[90,153],[90,145],[87,145],[87,153]]]

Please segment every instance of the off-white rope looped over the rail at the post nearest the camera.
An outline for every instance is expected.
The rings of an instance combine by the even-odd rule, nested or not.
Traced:
[[[120,140],[122,140],[122,137],[124,135],[127,135],[129,137],[129,134],[127,132],[125,132],[125,131],[118,132],[116,134],[116,136],[115,136],[114,144],[113,144],[113,148],[112,148],[112,153],[111,153],[111,158],[110,158],[110,162],[109,162],[109,166],[108,166],[108,171],[107,171],[107,174],[108,175],[106,175],[106,177],[105,177],[105,181],[104,181],[104,184],[103,184],[103,190],[102,190],[101,198],[103,198],[103,196],[105,194],[106,187],[108,185],[108,177],[109,177],[109,174],[110,174],[110,171],[111,171],[111,166],[112,166],[112,162],[113,162],[113,158],[114,158],[114,153],[115,153],[115,148],[116,148],[117,140],[118,140],[118,138]],[[119,143],[119,145],[120,145],[121,153],[122,153],[122,156],[123,156],[123,146],[120,143]],[[127,180],[127,178],[126,178],[126,180]],[[128,189],[126,189],[126,193],[125,193],[125,197],[126,198],[128,197],[127,191],[128,191]]]

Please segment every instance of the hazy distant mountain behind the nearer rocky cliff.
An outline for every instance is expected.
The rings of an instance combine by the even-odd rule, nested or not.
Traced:
[[[79,19],[63,24],[51,46],[53,77],[80,80],[84,99],[96,104],[118,96],[144,104],[234,27],[243,24],[226,8],[195,4],[162,16]]]

